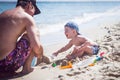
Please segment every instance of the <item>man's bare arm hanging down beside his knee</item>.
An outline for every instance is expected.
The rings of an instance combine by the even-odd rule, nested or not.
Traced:
[[[32,51],[35,53],[36,57],[41,57],[40,55],[43,54],[43,48],[40,44],[38,31],[33,18],[29,18],[27,20],[26,31],[30,40],[30,47]]]

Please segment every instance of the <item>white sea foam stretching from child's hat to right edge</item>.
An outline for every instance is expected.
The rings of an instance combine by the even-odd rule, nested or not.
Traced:
[[[92,21],[96,18],[114,16],[114,15],[120,16],[120,6],[107,10],[106,12],[101,12],[101,13],[97,13],[97,12],[96,13],[83,13],[83,16],[81,18],[77,16],[73,18],[73,21],[77,22],[78,24],[82,24],[82,23]]]

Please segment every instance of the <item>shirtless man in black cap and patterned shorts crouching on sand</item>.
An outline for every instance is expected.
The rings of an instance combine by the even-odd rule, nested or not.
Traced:
[[[14,73],[21,66],[22,73],[33,71],[33,57],[43,54],[32,17],[39,13],[36,0],[18,0],[16,8],[0,14],[0,74]]]

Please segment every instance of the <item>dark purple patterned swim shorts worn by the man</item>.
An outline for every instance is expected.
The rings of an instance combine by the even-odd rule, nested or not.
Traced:
[[[21,38],[16,48],[3,60],[0,60],[0,73],[1,72],[15,72],[24,65],[27,57],[30,54],[30,44],[28,40]]]

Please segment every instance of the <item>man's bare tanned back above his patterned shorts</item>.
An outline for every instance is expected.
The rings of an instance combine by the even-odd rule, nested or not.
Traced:
[[[0,14],[0,60],[15,48],[18,37],[25,31],[24,14],[16,8]]]

